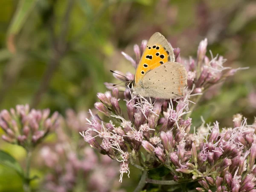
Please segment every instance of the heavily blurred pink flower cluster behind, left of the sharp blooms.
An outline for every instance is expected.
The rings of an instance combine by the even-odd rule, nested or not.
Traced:
[[[81,111],[76,114],[73,110],[67,110],[66,116],[66,119],[59,120],[56,143],[41,148],[41,161],[48,172],[42,187],[50,192],[69,192],[81,186],[84,186],[81,190],[95,192],[108,192],[117,188],[116,162],[82,145],[81,137],[79,140],[68,140],[73,131],[77,133],[80,128],[86,129],[84,120],[88,117],[87,113]]]

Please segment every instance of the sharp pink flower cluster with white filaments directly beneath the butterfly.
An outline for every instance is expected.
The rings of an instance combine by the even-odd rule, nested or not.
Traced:
[[[157,126],[161,127],[162,133],[167,131],[168,134],[168,130],[176,130],[175,139],[180,142],[179,151],[183,150],[185,144],[181,143],[185,141],[182,141],[182,138],[188,134],[191,125],[190,118],[182,119],[182,116],[187,113],[185,110],[188,105],[187,100],[174,103],[154,99],[149,101],[143,97],[130,95],[131,99],[125,96],[127,111],[123,112],[119,105],[117,88],[113,88],[112,93],[107,91],[98,93],[97,96],[101,102],[96,102],[95,108],[109,120],[103,121],[90,111],[91,117],[87,119],[89,127],[80,134],[91,147],[121,162],[120,182],[124,173],[128,173],[129,176],[128,164],[136,161],[141,146],[151,154],[156,153],[162,163],[166,160],[166,157],[163,157],[164,151],[160,148],[163,139],[157,136],[158,132],[155,131]],[[125,119],[125,113],[128,114],[127,119]],[[160,116],[163,117],[160,118]],[[96,137],[99,139],[96,140]],[[128,146],[132,152],[129,152]],[[180,158],[182,156],[180,155]]]

